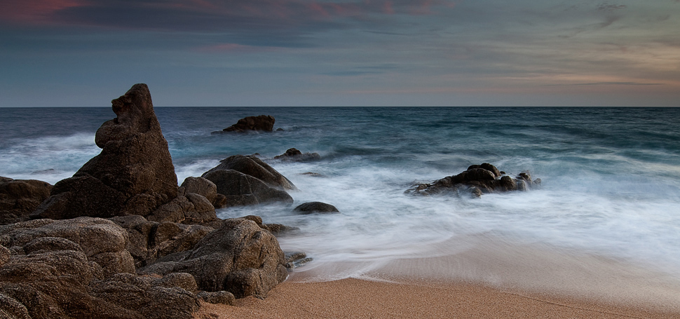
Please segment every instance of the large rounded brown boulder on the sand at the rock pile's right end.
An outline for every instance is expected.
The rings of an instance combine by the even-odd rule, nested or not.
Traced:
[[[191,273],[200,290],[225,290],[237,298],[266,297],[285,280],[283,251],[278,240],[249,219],[227,219],[221,229],[205,236],[191,252],[166,256],[141,273]]]

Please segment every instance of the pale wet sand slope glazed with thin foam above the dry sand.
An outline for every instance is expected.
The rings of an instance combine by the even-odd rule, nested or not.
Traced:
[[[465,250],[453,245],[461,240],[466,243]],[[361,278],[388,283],[423,281],[427,285],[472,283],[527,296],[655,308],[678,313],[680,318],[680,278],[656,270],[653,265],[542,243],[512,243],[497,236],[451,238],[437,246],[437,257],[414,256],[382,264],[312,262],[292,273],[289,281]]]

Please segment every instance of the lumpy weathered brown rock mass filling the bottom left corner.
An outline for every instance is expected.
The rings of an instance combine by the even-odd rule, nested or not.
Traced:
[[[106,219],[20,222],[1,226],[0,241],[0,313],[9,318],[188,319],[198,310],[195,288],[168,287],[177,274],[137,276],[126,231]]]

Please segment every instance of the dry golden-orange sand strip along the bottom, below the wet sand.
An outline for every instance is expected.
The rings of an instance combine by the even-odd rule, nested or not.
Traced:
[[[236,306],[203,304],[195,318],[680,318],[680,313],[471,283],[348,278],[285,282],[266,299],[239,299]]]

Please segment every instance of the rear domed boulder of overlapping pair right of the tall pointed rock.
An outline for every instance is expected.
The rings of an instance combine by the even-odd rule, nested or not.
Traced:
[[[297,189],[297,187],[295,187],[295,185],[293,185],[293,183],[290,182],[290,180],[288,180],[286,177],[281,175],[274,168],[269,166],[267,163],[264,163],[261,159],[257,158],[256,156],[234,155],[229,156],[228,158],[224,158],[222,161],[219,162],[220,162],[219,165],[217,165],[215,168],[208,170],[208,172],[205,172],[202,177],[208,178],[205,175],[207,175],[210,172],[215,172],[217,170],[236,170],[238,172],[242,172],[245,175],[255,177],[261,180],[262,182],[265,182],[269,186],[278,187],[280,189]],[[212,179],[210,180],[212,182],[215,182]],[[219,189],[219,186],[217,188]],[[220,194],[224,194],[219,190],[217,192]]]

